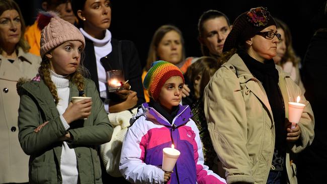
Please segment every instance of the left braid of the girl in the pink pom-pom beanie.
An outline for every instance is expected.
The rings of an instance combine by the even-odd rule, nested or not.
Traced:
[[[46,57],[44,57],[44,59],[42,59],[41,66],[39,67],[39,74],[40,74],[41,78],[43,79],[45,85],[48,86],[50,93],[54,99],[54,102],[57,105],[59,102],[57,88],[54,85],[53,81],[51,80],[49,69],[50,69],[50,62]]]

